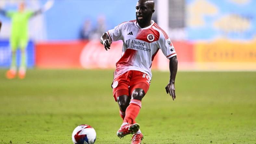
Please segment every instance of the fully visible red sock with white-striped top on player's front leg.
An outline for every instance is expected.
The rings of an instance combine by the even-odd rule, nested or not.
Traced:
[[[123,122],[128,124],[134,124],[135,118],[140,112],[141,101],[140,100],[131,100],[130,105],[126,108],[125,117]]]

